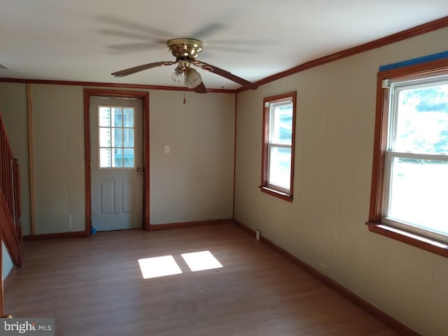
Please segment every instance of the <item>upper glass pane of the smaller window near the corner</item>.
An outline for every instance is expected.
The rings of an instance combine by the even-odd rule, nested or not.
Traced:
[[[291,145],[293,134],[293,104],[274,105],[271,109],[270,143]]]

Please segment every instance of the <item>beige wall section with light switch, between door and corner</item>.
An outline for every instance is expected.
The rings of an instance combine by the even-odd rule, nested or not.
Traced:
[[[232,218],[235,94],[152,91],[149,115],[151,224]]]

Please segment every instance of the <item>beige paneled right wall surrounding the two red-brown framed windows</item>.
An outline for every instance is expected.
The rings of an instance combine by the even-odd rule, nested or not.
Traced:
[[[447,335],[448,259],[370,233],[378,67],[448,50],[448,29],[238,95],[235,218],[422,335]],[[297,90],[294,200],[261,193],[262,98]]]

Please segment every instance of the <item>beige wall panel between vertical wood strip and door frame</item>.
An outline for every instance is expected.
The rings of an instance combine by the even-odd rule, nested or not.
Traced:
[[[36,233],[83,231],[83,88],[32,85],[32,98]]]

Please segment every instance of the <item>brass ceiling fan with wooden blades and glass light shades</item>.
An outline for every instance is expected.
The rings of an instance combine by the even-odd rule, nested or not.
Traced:
[[[229,71],[225,71],[216,66],[212,66],[211,64],[197,60],[197,55],[202,52],[202,41],[195,40],[193,38],[174,38],[167,41],[167,48],[172,52],[173,56],[176,57],[175,61],[158,61],[143,64],[141,66],[134,66],[133,68],[116,71],[115,73],[112,73],[112,75],[115,77],[124,77],[127,75],[132,75],[132,73],[138,73],[139,71],[156,68],[158,66],[172,66],[173,64],[178,64],[172,74],[172,80],[174,80],[174,82],[180,82],[183,79],[189,89],[193,89],[194,92],[200,94],[206,94],[207,88],[205,87],[204,82],[202,82],[200,73],[190,67],[190,65],[193,64],[194,66],[202,68],[202,70],[216,73],[217,75],[228,78],[233,82],[237,82],[247,89],[258,88],[258,85],[248,82],[247,80],[244,80]]]

